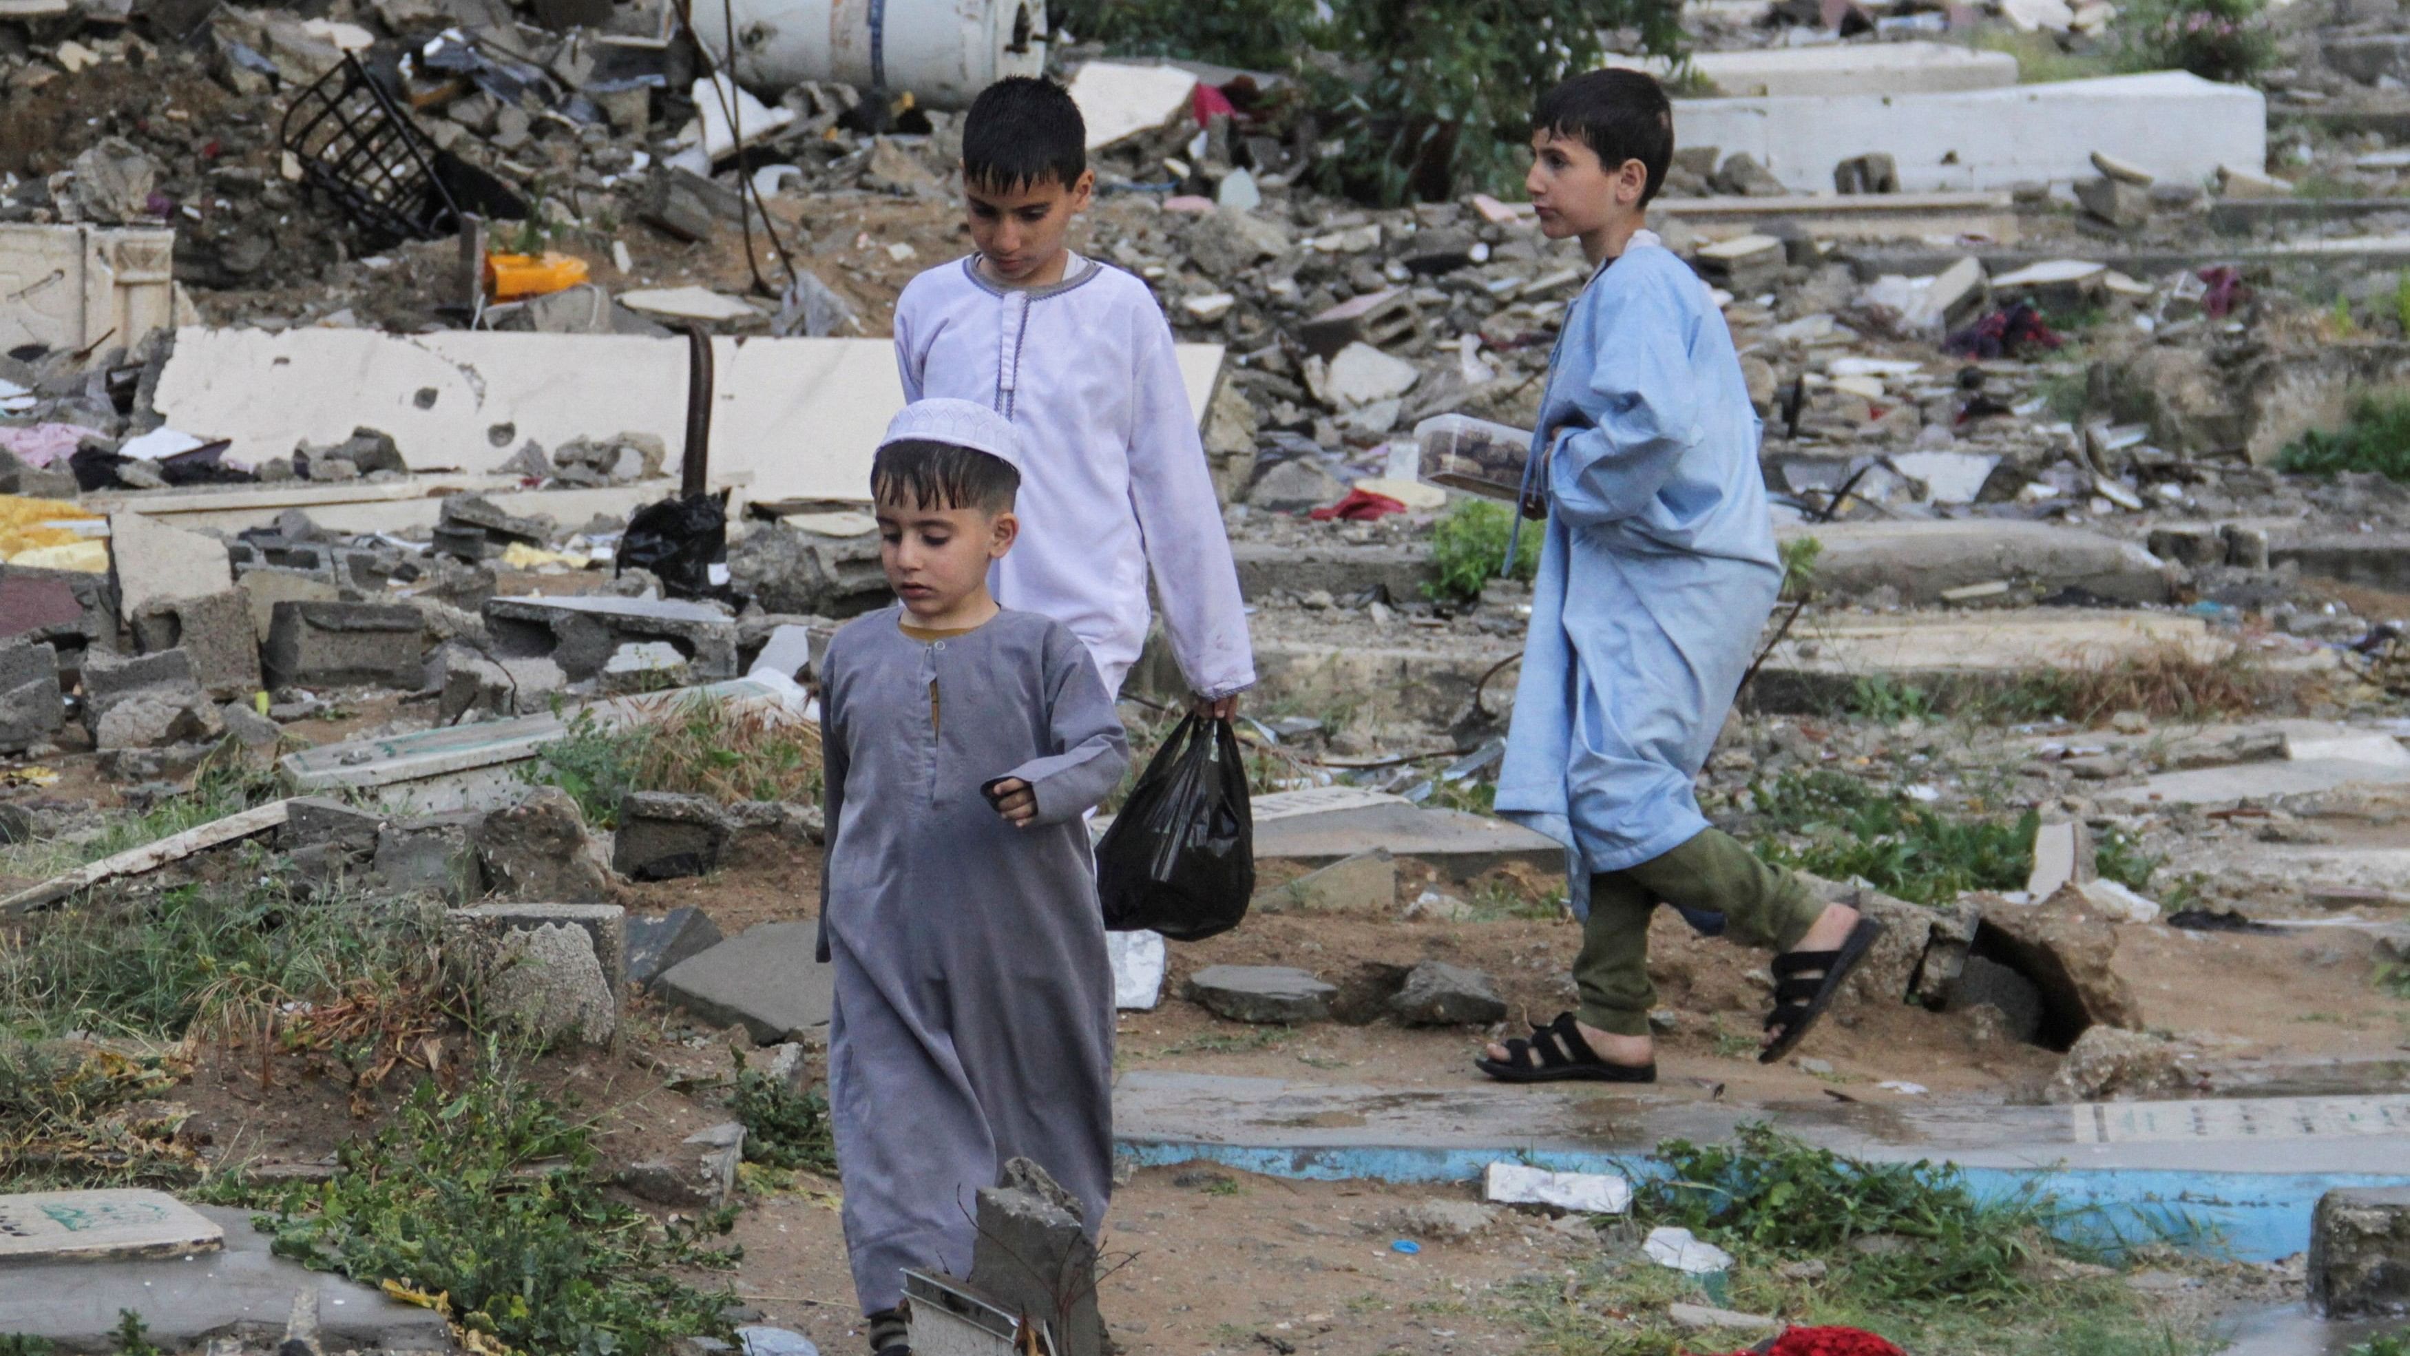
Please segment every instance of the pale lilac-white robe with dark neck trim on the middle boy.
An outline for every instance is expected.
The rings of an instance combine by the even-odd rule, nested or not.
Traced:
[[[911,279],[894,328],[904,400],[978,400],[1022,429],[1022,537],[991,578],[1000,605],[1070,626],[1121,691],[1147,643],[1152,564],[1188,686],[1256,684],[1222,506],[1145,282],[1072,255],[1063,282],[1005,287],[971,255]]]

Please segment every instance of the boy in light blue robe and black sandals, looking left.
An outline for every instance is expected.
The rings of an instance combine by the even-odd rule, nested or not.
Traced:
[[[1781,564],[1757,470],[1759,421],[1706,284],[1646,229],[1673,159],[1658,84],[1600,70],[1533,116],[1526,181],[1550,238],[1595,275],[1550,361],[1526,513],[1545,501],[1540,576],[1497,807],[1571,850],[1591,910],[1581,1002],[1489,1045],[1501,1081],[1651,1081],[1648,920],[1673,903],[1776,951],[1762,1060],[1798,1045],[1880,922],[1709,826],[1692,780],[1757,648]]]

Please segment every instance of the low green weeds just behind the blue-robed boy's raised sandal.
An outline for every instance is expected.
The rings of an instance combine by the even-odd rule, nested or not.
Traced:
[[[1757,855],[1827,879],[1863,877],[1882,894],[1945,903],[1971,889],[2020,889],[2041,814],[1950,819],[1846,773],[1786,771],[1750,788],[1764,824]]]

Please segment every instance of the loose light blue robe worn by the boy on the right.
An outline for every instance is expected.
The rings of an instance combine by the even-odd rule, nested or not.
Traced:
[[[1581,891],[1709,826],[1692,778],[1781,592],[1733,335],[1653,236],[1566,311],[1533,443],[1550,438],[1497,807],[1571,848]]]

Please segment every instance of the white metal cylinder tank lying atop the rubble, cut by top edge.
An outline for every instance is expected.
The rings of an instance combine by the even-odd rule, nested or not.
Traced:
[[[1046,0],[725,2],[694,5],[696,39],[725,63],[733,26],[737,82],[752,89],[834,79],[966,108],[1007,75],[1046,70]]]

